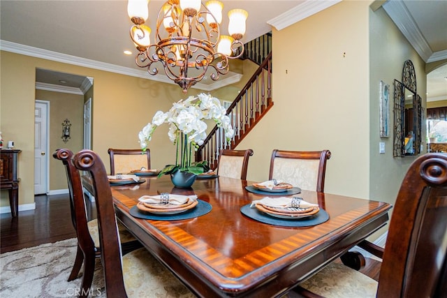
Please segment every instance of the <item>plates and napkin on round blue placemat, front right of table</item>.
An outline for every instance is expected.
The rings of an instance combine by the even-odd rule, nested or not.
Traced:
[[[265,197],[244,205],[240,211],[256,221],[287,227],[318,225],[329,219],[329,214],[318,204],[299,197]]]

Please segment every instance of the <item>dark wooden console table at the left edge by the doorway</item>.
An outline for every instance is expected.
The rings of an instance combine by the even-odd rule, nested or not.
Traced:
[[[16,149],[0,150],[0,188],[9,191],[9,204],[13,217],[19,213],[20,178],[17,178],[17,161],[21,151]]]

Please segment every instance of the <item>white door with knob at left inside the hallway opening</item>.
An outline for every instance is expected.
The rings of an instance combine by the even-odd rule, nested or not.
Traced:
[[[48,181],[48,115],[50,102],[36,100],[34,109],[34,194],[47,193]]]

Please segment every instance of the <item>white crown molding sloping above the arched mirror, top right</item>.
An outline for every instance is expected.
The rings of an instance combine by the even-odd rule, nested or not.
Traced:
[[[396,24],[397,28],[400,29],[405,38],[413,46],[414,50],[418,52],[420,58],[427,62],[428,59],[432,57],[432,49],[430,49],[430,45],[427,43],[427,40],[425,40],[423,33],[420,32],[413,17],[411,17],[404,1],[387,1],[382,7],[391,20]]]

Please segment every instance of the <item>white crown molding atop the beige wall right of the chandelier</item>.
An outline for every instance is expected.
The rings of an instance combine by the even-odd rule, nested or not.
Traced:
[[[310,17],[316,13],[319,13],[321,10],[325,10],[330,6],[339,3],[342,0],[328,0],[328,1],[314,1],[307,0],[291,8],[286,13],[278,15],[274,17],[272,20],[267,21],[267,24],[273,26],[275,29],[282,30],[291,24],[295,24],[296,22],[300,22],[304,20],[306,17]]]

